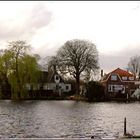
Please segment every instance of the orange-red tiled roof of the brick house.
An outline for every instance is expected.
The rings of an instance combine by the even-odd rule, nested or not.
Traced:
[[[118,74],[119,76],[134,76],[134,74],[132,74],[132,73],[130,73],[128,71],[122,70],[120,68],[117,68],[117,69],[115,69],[114,71],[112,71],[110,73],[115,73],[115,74]]]

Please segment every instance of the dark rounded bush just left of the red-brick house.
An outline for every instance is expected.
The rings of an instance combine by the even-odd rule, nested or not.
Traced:
[[[86,85],[86,97],[88,101],[101,101],[104,99],[104,86],[96,81],[90,81]]]

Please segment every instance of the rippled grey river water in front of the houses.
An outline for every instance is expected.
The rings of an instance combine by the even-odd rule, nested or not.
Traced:
[[[0,101],[1,138],[90,138],[140,134],[140,103]],[[119,132],[119,133],[118,133]]]

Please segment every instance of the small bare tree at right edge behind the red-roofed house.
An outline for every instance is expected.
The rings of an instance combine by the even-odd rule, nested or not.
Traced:
[[[130,72],[134,73],[136,77],[140,78],[140,56],[134,56],[130,58],[128,68]]]

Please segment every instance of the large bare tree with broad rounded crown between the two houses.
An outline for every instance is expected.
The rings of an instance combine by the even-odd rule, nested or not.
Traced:
[[[67,41],[58,50],[55,62],[61,73],[69,73],[76,79],[76,94],[79,94],[80,76],[89,78],[90,72],[99,68],[96,46],[90,41],[79,39]]]

